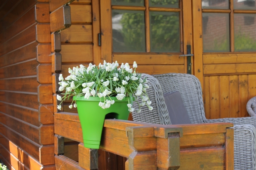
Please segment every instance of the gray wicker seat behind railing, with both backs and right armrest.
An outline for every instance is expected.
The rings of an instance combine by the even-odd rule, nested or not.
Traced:
[[[144,106],[141,108],[142,112],[133,112],[134,121],[171,124],[163,94],[179,91],[191,123],[231,122],[234,124],[234,169],[256,170],[256,117],[206,119],[202,88],[195,76],[175,73],[153,76],[142,75],[147,77],[150,86],[148,94],[154,109],[149,113]],[[137,103],[134,103],[134,107],[138,108]]]

